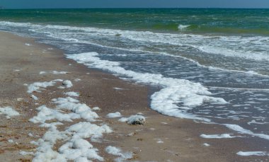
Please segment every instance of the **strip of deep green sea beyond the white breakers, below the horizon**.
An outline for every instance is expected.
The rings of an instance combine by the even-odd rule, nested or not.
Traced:
[[[269,35],[269,9],[118,8],[1,10],[0,21],[164,33]]]

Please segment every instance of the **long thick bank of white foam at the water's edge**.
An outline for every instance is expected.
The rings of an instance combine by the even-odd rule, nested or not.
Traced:
[[[161,114],[210,122],[210,120],[206,118],[188,113],[187,110],[202,105],[202,103],[205,102],[219,104],[227,103],[223,98],[210,97],[212,93],[200,83],[193,83],[185,79],[166,78],[161,74],[143,74],[126,70],[120,67],[120,63],[118,62],[102,60],[97,56],[98,53],[96,52],[87,52],[71,54],[67,57],[76,60],[76,62],[86,64],[86,66],[89,67],[125,75],[140,83],[151,83],[163,86],[164,88],[161,89],[161,91],[156,92],[151,96],[151,108]]]

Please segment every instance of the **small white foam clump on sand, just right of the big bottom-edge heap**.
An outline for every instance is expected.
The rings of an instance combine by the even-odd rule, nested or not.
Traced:
[[[111,155],[114,155],[114,156],[120,156],[118,158],[115,158],[116,162],[121,162],[121,161],[125,161],[127,159],[132,158],[132,153],[131,152],[122,153],[122,150],[115,147],[115,146],[107,146],[105,148],[105,151],[108,154],[111,154]]]

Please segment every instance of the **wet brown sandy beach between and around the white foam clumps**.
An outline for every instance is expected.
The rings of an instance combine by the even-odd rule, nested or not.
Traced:
[[[66,73],[61,74],[60,71]],[[82,64],[66,59],[61,50],[30,38],[0,33],[0,76],[0,108],[8,106],[20,114],[12,116],[11,119],[7,119],[6,115],[0,115],[0,161],[32,161],[38,146],[31,141],[42,139],[49,129],[40,127],[40,123],[29,122],[38,114],[36,108],[42,105],[55,108],[53,98],[66,98],[64,93],[73,91],[79,93],[76,97],[79,103],[85,103],[90,108],[100,108],[92,110],[98,114],[98,120],[91,123],[98,126],[108,125],[113,130],[103,133],[97,141],[84,138],[93,148],[98,149],[98,155],[103,157],[103,161],[119,158],[105,151],[108,146],[120,148],[122,154],[132,153],[132,158],[122,161],[267,160],[266,156],[236,155],[242,149],[257,150],[263,142],[261,139],[247,143],[247,138],[202,138],[200,134],[241,134],[219,125],[205,125],[193,120],[161,115],[149,108],[149,95],[154,91],[149,86],[123,81],[118,76],[97,69],[88,69]],[[40,88],[40,92],[28,93],[30,84],[55,79],[62,81],[56,81],[53,86],[47,88]],[[65,85],[62,84],[65,80],[71,81],[73,86],[59,88]],[[128,125],[126,122],[118,121],[120,117],[107,117],[110,112],[120,112],[122,117],[139,113],[146,117],[146,123]],[[69,110],[62,110],[62,113],[69,113]],[[57,125],[57,129],[64,131],[71,125],[85,120],[47,120],[47,123],[50,122],[62,122],[62,125]],[[57,140],[52,149],[57,152],[59,146],[65,142]],[[207,144],[210,146],[205,146]],[[22,155],[21,151],[33,152],[33,155]]]

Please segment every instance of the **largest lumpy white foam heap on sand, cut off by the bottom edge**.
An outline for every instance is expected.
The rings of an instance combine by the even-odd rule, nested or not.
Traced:
[[[98,160],[103,161],[103,158],[98,155],[98,149],[83,138],[100,138],[103,133],[110,133],[111,129],[106,126],[93,125],[90,122],[80,122],[71,125],[64,132],[59,132],[57,129],[50,128],[48,132],[38,139],[38,149],[35,153],[33,162],[39,161],[81,161],[84,159],[89,161]],[[52,148],[58,140],[67,141],[59,147],[58,152]]]

